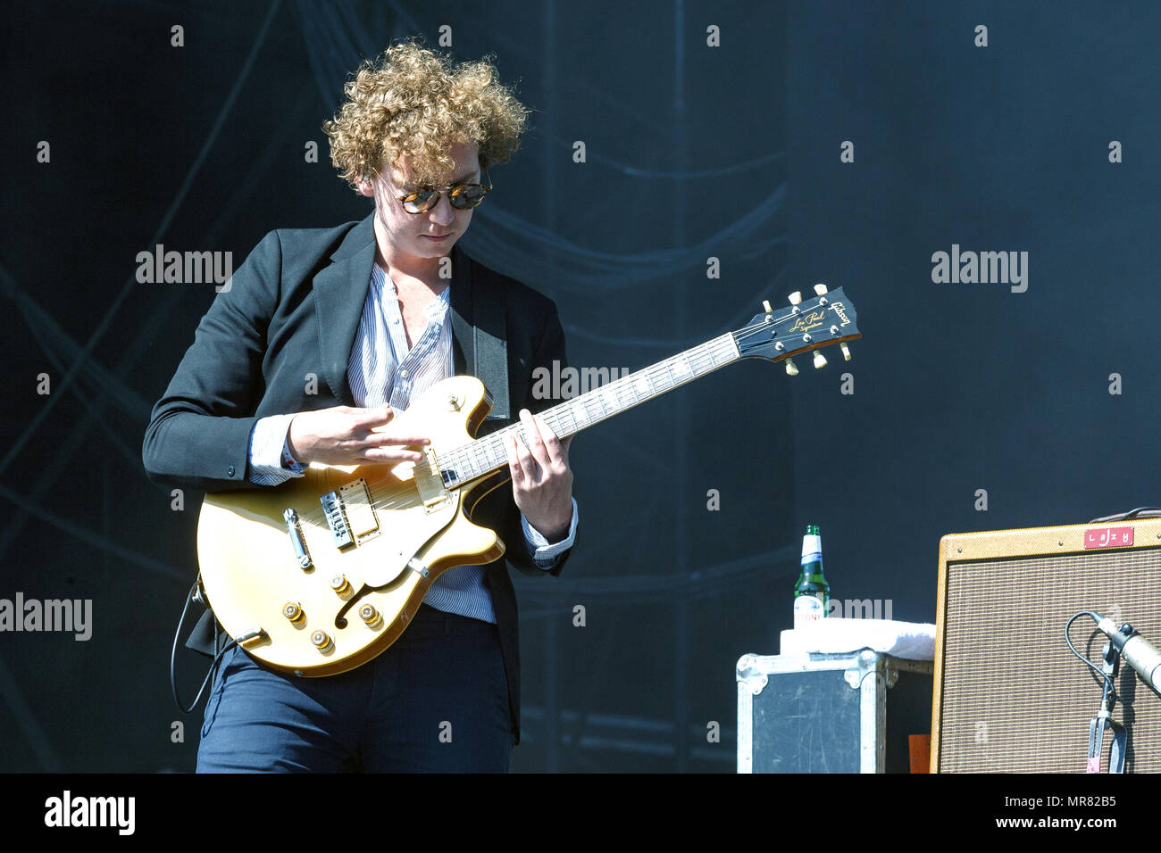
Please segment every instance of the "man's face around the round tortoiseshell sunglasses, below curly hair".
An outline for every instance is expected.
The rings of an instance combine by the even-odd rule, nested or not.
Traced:
[[[448,153],[455,160],[455,168],[442,175],[437,187],[479,183],[479,157],[475,143],[453,145]],[[440,195],[431,210],[421,214],[405,211],[398,197],[423,188],[424,185],[412,179],[408,158],[395,167],[384,164],[381,176],[373,175],[370,183],[359,185],[360,193],[375,198],[375,232],[389,247],[384,255],[399,260],[442,258],[471,224],[473,211],[453,208],[447,193]]]

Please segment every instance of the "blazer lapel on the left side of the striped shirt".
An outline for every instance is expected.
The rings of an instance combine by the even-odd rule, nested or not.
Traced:
[[[331,255],[333,261],[315,276],[315,311],[323,375],[334,397],[355,404],[347,382],[347,362],[362,317],[370,270],[375,266],[374,212],[351,229]]]

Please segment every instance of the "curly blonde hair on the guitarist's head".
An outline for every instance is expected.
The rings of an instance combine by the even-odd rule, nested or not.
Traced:
[[[346,102],[323,130],[331,162],[355,189],[402,157],[414,180],[435,183],[455,168],[455,143],[475,143],[482,168],[505,162],[528,117],[489,57],[456,64],[414,42],[365,60],[342,91]]]

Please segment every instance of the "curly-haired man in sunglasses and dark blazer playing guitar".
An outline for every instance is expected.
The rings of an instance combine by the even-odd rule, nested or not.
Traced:
[[[486,62],[453,65],[414,44],[365,63],[345,92],[324,129],[374,214],[264,238],[154,407],[145,468],[214,491],[274,486],[311,462],[418,461],[427,436],[392,429],[395,412],[453,374],[502,377],[510,411],[481,432],[518,417],[527,441],[509,441],[512,485],[473,520],[497,530],[514,568],[557,574],[577,525],[569,442],[532,414],[553,403],[533,398],[533,370],[565,362],[556,308],[455,246],[527,110]],[[209,651],[211,624],[188,644]],[[235,645],[207,702],[199,772],[504,772],[519,740],[518,651],[504,562],[441,574],[402,637],[342,674],[282,674]]]

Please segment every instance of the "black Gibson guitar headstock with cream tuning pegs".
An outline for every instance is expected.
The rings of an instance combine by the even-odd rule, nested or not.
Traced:
[[[785,360],[786,373],[791,376],[798,376],[792,355],[816,350],[814,366],[820,368],[827,360],[817,350],[832,344],[842,347],[843,357],[850,361],[846,341],[863,337],[856,323],[854,305],[842,288],[828,292],[825,284],[815,284],[814,291],[816,296],[805,302],[801,294],[791,294],[789,308],[776,310],[764,302],[762,313],[731,333],[738,354],[743,359]]]

